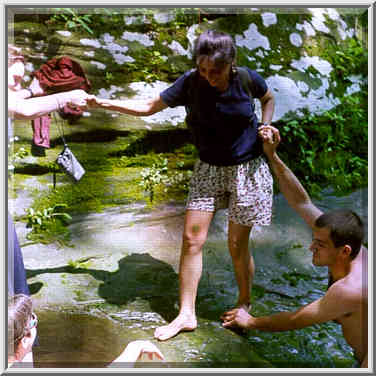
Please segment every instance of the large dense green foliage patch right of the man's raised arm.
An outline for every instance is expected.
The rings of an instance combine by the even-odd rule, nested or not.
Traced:
[[[314,197],[323,188],[343,195],[368,183],[367,92],[343,98],[320,116],[307,115],[280,127],[280,153]]]

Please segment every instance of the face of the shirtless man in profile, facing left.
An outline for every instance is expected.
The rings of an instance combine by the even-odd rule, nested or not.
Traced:
[[[326,227],[315,228],[312,235],[312,263],[316,266],[333,265],[342,247],[335,247],[330,238],[330,230]]]

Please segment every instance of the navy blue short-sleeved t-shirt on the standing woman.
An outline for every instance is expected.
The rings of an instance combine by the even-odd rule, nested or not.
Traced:
[[[268,87],[255,71],[246,68],[254,98],[265,95]],[[228,89],[221,93],[194,69],[180,76],[160,95],[169,107],[185,106],[186,123],[203,162],[231,166],[261,155],[257,137],[257,116],[239,74],[232,75]]]

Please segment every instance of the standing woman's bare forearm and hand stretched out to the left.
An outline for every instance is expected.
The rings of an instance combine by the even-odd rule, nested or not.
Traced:
[[[162,98],[158,95],[152,99],[144,100],[118,100],[90,97],[87,100],[89,108],[103,108],[133,116],[149,116],[167,108]]]

